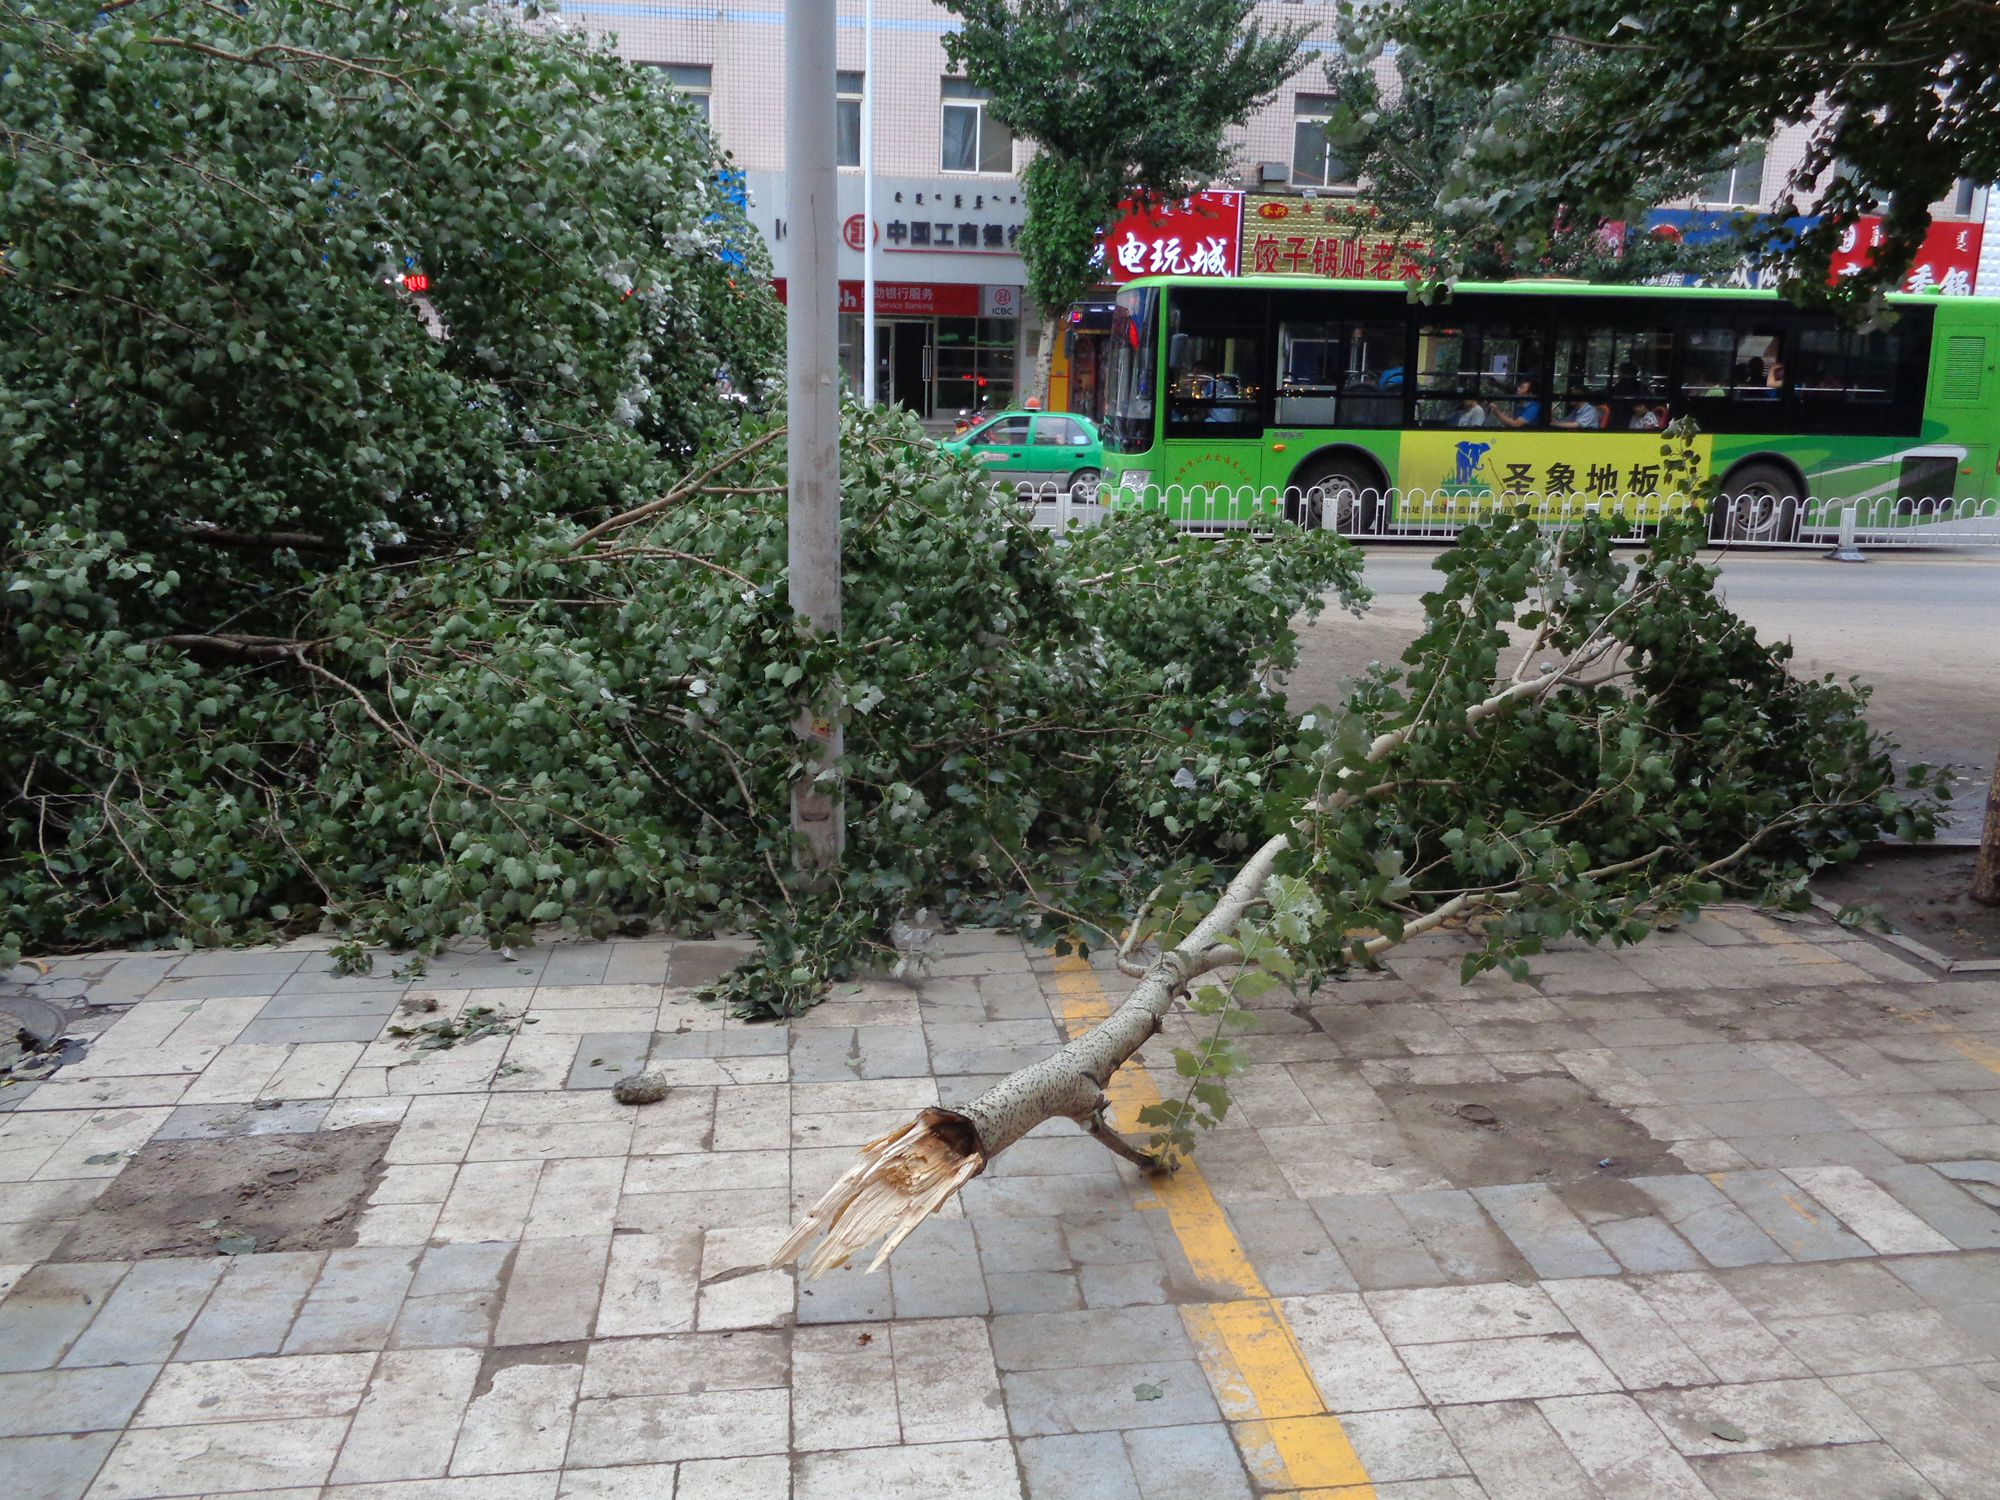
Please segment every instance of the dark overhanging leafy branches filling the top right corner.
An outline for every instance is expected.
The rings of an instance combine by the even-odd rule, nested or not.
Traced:
[[[1378,36],[1422,54],[1454,88],[1492,96],[1460,152],[1464,194],[1514,234],[1558,214],[1624,218],[1650,186],[1812,122],[1778,220],[1788,292],[1864,302],[1894,290],[1958,178],[2000,178],[2000,24],[1990,4],[1918,0],[1408,0],[1374,12]],[[1842,230],[1882,214],[1870,270],[1828,288]]]

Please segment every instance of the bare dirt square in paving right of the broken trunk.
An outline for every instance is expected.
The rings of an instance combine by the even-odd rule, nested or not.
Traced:
[[[1402,1084],[1376,1094],[1424,1158],[1460,1188],[1680,1172],[1654,1140],[1574,1078]],[[1608,1166],[1600,1166],[1608,1162]]]

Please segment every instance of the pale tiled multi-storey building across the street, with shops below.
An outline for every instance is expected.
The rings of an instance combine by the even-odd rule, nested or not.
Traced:
[[[836,158],[840,162],[840,356],[848,380],[862,382],[862,244],[876,244],[876,390],[924,418],[950,422],[960,410],[1000,408],[1024,394],[1032,376],[1040,310],[1026,304],[1024,270],[1014,242],[1026,222],[1020,168],[1026,144],[990,116],[982,92],[952,76],[944,38],[956,26],[934,0],[874,4],[874,186],[872,214],[862,204],[860,104],[864,86],[862,0],[838,4]],[[1264,0],[1274,22],[1310,24],[1308,50],[1336,48],[1336,8],[1328,0]],[[718,142],[746,176],[750,218],[772,250],[782,282],[792,226],[784,218],[784,8],[724,0],[570,0],[568,24],[616,38],[620,54],[660,68],[674,88],[694,98]],[[1380,64],[1390,76],[1392,64]],[[1348,168],[1328,150],[1318,124],[1326,118],[1326,72],[1318,58],[1230,132],[1236,172],[1218,188],[1244,196],[1246,212],[1284,218],[1280,210],[1312,202],[1316,218],[1336,218],[1338,204],[1360,192]],[[1808,130],[1748,144],[1704,192],[1668,210],[1756,210],[1772,206],[1804,156]],[[1944,224],[1970,230],[1966,244],[1978,262],[1978,230],[1988,216],[1984,188],[1962,186],[1938,204]],[[1296,214],[1298,218],[1306,214]],[[1242,272],[1262,238],[1248,218],[1240,236]],[[1274,238],[1288,254],[1288,236]],[[2000,290],[2000,244],[1986,234],[1988,276]],[[1318,242],[1314,242],[1318,244]],[[1350,246],[1342,246],[1350,254]],[[1382,246],[1374,246],[1368,264]],[[1382,274],[1396,274],[1390,254]],[[1942,264],[1942,262],[1940,262]],[[1154,266],[1158,268],[1158,266]],[[1302,262],[1306,274],[1328,272]],[[1938,274],[1942,280],[1946,272]],[[1970,270],[1964,280],[1970,282]],[[1934,282],[1936,284],[1936,282]],[[1972,290],[1954,284],[1950,290]],[[1058,360],[1058,378],[1066,360]],[[1060,402],[1058,402],[1060,404]]]

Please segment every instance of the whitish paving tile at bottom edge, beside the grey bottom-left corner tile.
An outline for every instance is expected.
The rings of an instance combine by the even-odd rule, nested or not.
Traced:
[[[346,1430],[344,1416],[132,1428],[98,1470],[90,1500],[316,1486]]]

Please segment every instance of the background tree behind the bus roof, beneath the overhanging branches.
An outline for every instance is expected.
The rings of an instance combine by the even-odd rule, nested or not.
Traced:
[[[1394,66],[1394,86],[1384,88],[1366,48],[1328,54],[1334,110],[1326,136],[1362,182],[1360,202],[1380,228],[1426,242],[1440,278],[1646,282],[1716,276],[1736,264],[1738,252],[1726,240],[1690,246],[1654,238],[1638,220],[1612,224],[1558,212],[1530,234],[1510,230],[1490,200],[1464,190],[1464,160],[1486,128],[1490,90],[1436,74],[1408,48]],[[1546,100],[1540,104],[1546,108]],[[1692,166],[1666,166],[1642,180],[1636,194],[1660,204],[1692,194],[1700,178]]]

